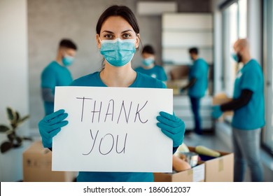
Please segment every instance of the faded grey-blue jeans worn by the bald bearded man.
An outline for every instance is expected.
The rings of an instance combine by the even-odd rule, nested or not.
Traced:
[[[234,181],[244,181],[246,166],[251,172],[251,181],[263,179],[262,162],[260,161],[260,129],[238,130],[232,128],[232,143],[235,153]]]

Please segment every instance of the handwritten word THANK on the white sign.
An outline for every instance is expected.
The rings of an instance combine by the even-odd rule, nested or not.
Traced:
[[[111,99],[109,102],[97,102],[90,97],[76,97],[81,102],[80,122],[85,120],[92,123],[97,122],[115,122],[115,123],[129,123],[132,121],[136,123],[147,123],[148,120],[141,118],[148,101],[144,104],[134,104],[133,102],[121,102],[120,106]]]

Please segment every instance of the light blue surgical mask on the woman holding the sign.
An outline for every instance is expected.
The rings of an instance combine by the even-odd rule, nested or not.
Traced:
[[[116,38],[115,40],[102,40],[101,43],[101,54],[112,66],[124,66],[132,60],[136,52],[135,39]]]

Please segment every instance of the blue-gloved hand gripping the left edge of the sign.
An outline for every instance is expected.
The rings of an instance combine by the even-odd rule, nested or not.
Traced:
[[[67,116],[68,114],[64,113],[64,110],[59,110],[45,116],[45,118],[38,123],[43,147],[52,148],[52,138],[61,130],[61,127],[68,124],[68,121],[64,120]]]

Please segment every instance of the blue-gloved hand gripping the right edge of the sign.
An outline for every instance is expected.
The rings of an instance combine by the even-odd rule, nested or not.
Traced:
[[[180,146],[184,139],[185,123],[175,115],[164,111],[160,111],[160,116],[157,116],[156,119],[159,121],[156,125],[167,137],[172,139],[173,147]]]

